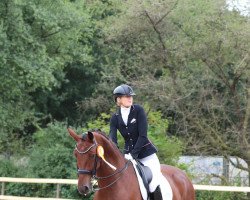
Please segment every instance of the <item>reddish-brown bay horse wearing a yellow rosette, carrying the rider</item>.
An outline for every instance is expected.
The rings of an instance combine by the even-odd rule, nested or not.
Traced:
[[[77,135],[70,128],[68,132],[77,142],[74,155],[80,194],[86,196],[95,190],[94,200],[142,200],[133,164],[104,133]],[[172,188],[172,200],[195,199],[194,187],[183,171],[169,165],[161,165],[161,171]],[[97,189],[92,188],[93,178],[98,182]]]

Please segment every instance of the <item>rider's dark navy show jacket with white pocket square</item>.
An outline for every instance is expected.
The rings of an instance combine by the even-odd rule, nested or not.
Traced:
[[[112,115],[110,119],[109,137],[117,145],[117,130],[125,140],[124,153],[131,153],[134,158],[145,158],[157,152],[156,147],[147,137],[147,117],[140,105],[132,105],[125,125],[121,109]]]

